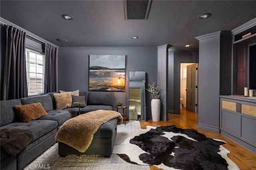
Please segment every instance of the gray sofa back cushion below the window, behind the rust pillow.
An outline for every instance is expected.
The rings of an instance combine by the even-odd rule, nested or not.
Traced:
[[[53,110],[52,99],[50,95],[40,95],[25,97],[20,99],[22,105],[28,105],[32,103],[41,103],[46,112]]]

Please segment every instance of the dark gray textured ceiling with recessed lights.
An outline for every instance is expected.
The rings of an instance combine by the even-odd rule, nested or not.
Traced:
[[[198,51],[194,37],[232,30],[256,18],[256,1],[156,1],[148,20],[124,20],[119,1],[0,1],[0,16],[58,46],[129,47],[170,44]],[[199,14],[210,18],[199,20]],[[69,14],[74,20],[64,20]],[[137,40],[131,39],[138,36]],[[58,42],[64,38],[68,42]],[[190,44],[191,47],[184,47]]]

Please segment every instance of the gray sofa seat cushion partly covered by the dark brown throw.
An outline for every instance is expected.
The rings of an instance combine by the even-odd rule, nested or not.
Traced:
[[[30,121],[27,123],[11,123],[9,125],[5,125],[1,128],[19,128],[19,129],[28,129],[33,132],[36,136],[36,139],[40,138],[41,136],[47,134],[48,132],[57,128],[58,123],[56,121]]]

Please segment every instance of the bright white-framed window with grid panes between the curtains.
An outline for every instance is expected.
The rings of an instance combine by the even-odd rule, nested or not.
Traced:
[[[44,93],[44,55],[26,49],[28,95]]]

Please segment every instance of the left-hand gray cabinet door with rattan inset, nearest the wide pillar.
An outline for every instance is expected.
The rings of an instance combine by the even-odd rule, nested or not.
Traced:
[[[239,117],[236,100],[220,98],[220,129],[239,136]]]

